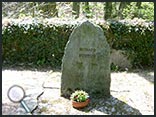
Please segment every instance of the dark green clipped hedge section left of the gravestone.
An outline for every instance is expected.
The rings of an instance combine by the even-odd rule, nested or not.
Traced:
[[[3,30],[3,62],[60,66],[72,27],[66,25],[12,24]]]

